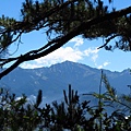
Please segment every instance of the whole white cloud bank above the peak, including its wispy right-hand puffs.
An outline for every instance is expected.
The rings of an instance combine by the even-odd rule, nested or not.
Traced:
[[[97,47],[90,47],[87,49],[80,50],[79,47],[84,43],[83,38],[75,37],[72,38],[70,41],[74,43],[74,46],[61,47],[45,57],[41,57],[31,62],[24,62],[23,64],[21,64],[21,67],[25,69],[34,69],[34,68],[49,67],[51,64],[63,62],[66,60],[78,62],[86,58],[91,59],[93,63],[97,67],[97,59],[99,52],[99,49],[97,49]],[[108,62],[104,62],[98,68],[100,69],[108,64],[109,64]]]

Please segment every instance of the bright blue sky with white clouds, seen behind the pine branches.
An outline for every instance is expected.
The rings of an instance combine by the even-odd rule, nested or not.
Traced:
[[[5,16],[20,20],[20,9],[23,1],[24,0],[1,0],[0,15],[4,14]],[[104,1],[107,2],[108,0]],[[129,5],[131,5],[131,0],[121,0],[121,2],[120,0],[114,0],[110,8],[116,7],[116,9],[122,9]],[[37,49],[47,44],[47,37],[45,36],[44,29],[24,34],[21,40],[22,44],[19,45],[19,50],[16,52],[15,50],[17,49],[19,43],[14,43],[14,45],[9,48],[11,57],[20,56],[31,49]],[[114,43],[114,40],[111,43]],[[124,69],[131,68],[131,52],[124,52],[119,49],[115,51],[107,51],[104,48],[97,49],[97,47],[103,44],[103,38],[87,40],[81,36],[76,36],[50,55],[34,61],[24,62],[20,67],[24,69],[34,69],[49,67],[69,60],[84,63],[92,68],[107,69],[110,71],[123,71]]]

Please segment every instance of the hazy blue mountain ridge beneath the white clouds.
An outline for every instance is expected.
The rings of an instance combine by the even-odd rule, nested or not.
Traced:
[[[122,72],[104,70],[104,73],[106,73],[110,85],[119,93],[128,94],[130,92],[127,86],[131,84],[131,75],[128,70]],[[17,95],[26,94],[27,96],[36,95],[38,90],[43,90],[46,98],[53,99],[61,97],[62,91],[68,90],[69,84],[79,93],[98,92],[100,75],[98,69],[66,61],[49,68],[16,68],[0,81],[0,86],[10,88],[12,93]],[[103,87],[103,92],[105,92],[105,87]]]

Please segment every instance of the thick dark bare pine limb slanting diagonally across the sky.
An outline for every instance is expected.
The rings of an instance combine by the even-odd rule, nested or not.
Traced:
[[[73,37],[81,35],[83,31],[90,29],[91,26],[96,25],[102,22],[105,22],[105,21],[108,21],[108,20],[123,16],[128,13],[131,13],[131,7],[116,11],[116,12],[105,14],[104,16],[91,19],[86,22],[82,22],[79,26],[73,28],[73,31],[69,32],[67,35],[60,36],[57,39],[52,39],[46,46],[41,47],[38,50],[33,50],[33,51],[29,51],[29,52],[19,57],[16,62],[14,62],[10,68],[8,68],[7,70],[4,70],[3,72],[0,73],[0,79],[2,79],[4,75],[10,73],[12,70],[14,70],[20,63],[47,56],[48,53],[55,51],[56,49],[60,48],[66,43],[68,43],[70,39],[72,39]]]

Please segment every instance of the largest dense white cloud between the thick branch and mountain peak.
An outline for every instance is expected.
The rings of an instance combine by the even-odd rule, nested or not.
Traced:
[[[80,50],[75,50],[71,47],[61,47],[53,52],[34,60],[33,63],[25,62],[21,67],[26,69],[48,67],[58,62],[63,62],[66,60],[76,62],[83,59],[83,53]]]

